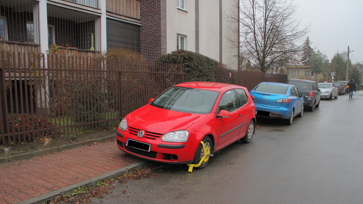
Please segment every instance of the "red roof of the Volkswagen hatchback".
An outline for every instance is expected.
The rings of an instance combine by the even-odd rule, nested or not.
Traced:
[[[233,84],[225,84],[225,83],[217,83],[217,82],[186,82],[181,84],[176,84],[175,86],[179,87],[188,87],[188,88],[199,88],[205,89],[209,91],[218,91],[224,92],[233,88],[244,88],[242,86],[233,85]]]

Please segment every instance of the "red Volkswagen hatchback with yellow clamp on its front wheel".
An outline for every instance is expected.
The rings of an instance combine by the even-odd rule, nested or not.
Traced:
[[[126,115],[116,132],[117,146],[151,161],[198,164],[204,155],[201,141],[213,154],[237,140],[250,142],[255,126],[255,107],[246,87],[182,83]]]

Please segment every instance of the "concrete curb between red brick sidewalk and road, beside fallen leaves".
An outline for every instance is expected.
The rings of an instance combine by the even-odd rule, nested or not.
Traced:
[[[96,177],[93,177],[93,178],[78,182],[76,184],[60,188],[58,190],[55,190],[55,191],[52,191],[52,192],[49,192],[49,193],[45,193],[43,195],[33,197],[31,199],[28,199],[28,200],[21,201],[18,204],[32,204],[32,203],[41,204],[41,203],[46,203],[49,200],[53,200],[57,196],[72,193],[73,189],[78,189],[78,187],[85,188],[85,187],[89,187],[89,186],[94,186],[94,185],[97,184],[98,181],[103,181],[103,180],[107,180],[107,179],[116,178],[118,175],[127,174],[128,172],[134,170],[135,168],[143,168],[148,163],[150,163],[150,162],[147,161],[147,160],[136,162],[136,163],[131,164],[129,166],[119,168],[119,169],[116,169],[114,171],[110,171],[110,172],[108,172],[106,174],[102,174],[102,175],[99,175],[99,176],[96,176]]]

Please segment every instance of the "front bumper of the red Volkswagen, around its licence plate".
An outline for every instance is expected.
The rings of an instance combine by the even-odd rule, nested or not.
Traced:
[[[127,139],[132,140],[138,144],[139,142],[145,145],[150,144],[150,151],[142,150],[143,148],[138,148],[136,145],[127,146]],[[159,139],[148,139],[148,138],[138,138],[126,131],[121,131],[119,128],[116,131],[117,147],[143,159],[150,161],[170,163],[170,164],[187,164],[192,163],[195,155],[195,151],[200,143],[198,140],[188,141],[188,142],[164,142]]]

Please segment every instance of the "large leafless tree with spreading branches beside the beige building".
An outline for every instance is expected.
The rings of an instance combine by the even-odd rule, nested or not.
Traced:
[[[241,56],[266,72],[281,61],[298,62],[303,50],[303,38],[309,26],[299,28],[295,15],[297,5],[291,0],[240,1]]]

